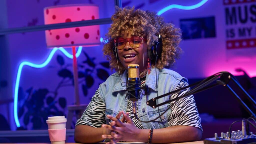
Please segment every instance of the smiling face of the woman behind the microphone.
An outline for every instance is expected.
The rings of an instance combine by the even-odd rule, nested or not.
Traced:
[[[140,43],[139,47],[134,47],[133,44],[129,44],[130,42],[134,43],[134,45],[137,45]],[[123,49],[118,49],[118,57],[121,62],[121,64],[127,69],[129,64],[138,64],[140,65],[140,72],[144,71],[147,68],[147,44],[145,40],[142,41],[143,38],[137,37],[133,35],[132,30],[125,30],[124,33],[121,34],[119,37],[119,40],[116,41],[117,47],[120,47],[120,45],[124,45]],[[126,42],[127,41],[127,42]],[[119,46],[118,46],[119,44]],[[144,52],[144,54],[143,54]],[[143,68],[143,59],[144,59],[144,68]]]

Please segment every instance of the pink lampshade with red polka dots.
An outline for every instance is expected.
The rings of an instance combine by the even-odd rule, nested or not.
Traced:
[[[91,4],[51,6],[44,9],[45,24],[68,23],[99,18],[99,7]],[[47,47],[96,46],[100,44],[100,26],[46,30]]]

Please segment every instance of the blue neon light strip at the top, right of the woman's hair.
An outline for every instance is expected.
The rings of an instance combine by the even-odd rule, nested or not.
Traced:
[[[169,6],[165,7],[165,8],[163,8],[163,9],[161,9],[157,14],[161,15],[161,14],[165,13],[166,11],[169,11],[170,9],[173,9],[173,8],[178,8],[178,9],[183,9],[183,10],[196,9],[196,8],[204,5],[207,1],[208,0],[202,0],[198,4],[191,5],[191,6],[183,6],[183,5],[176,5],[176,4],[169,5]]]

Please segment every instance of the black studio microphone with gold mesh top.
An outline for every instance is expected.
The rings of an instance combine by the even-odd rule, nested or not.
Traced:
[[[140,99],[140,77],[139,77],[139,65],[128,65],[128,84],[127,92],[128,98],[132,101],[133,114],[136,114],[137,101]]]

